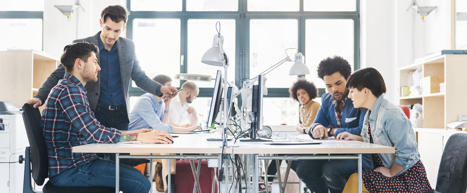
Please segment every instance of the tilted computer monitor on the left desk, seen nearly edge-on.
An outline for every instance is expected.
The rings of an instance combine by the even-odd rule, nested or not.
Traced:
[[[222,101],[222,90],[224,88],[224,78],[222,72],[217,70],[216,81],[214,83],[214,90],[212,91],[211,106],[209,108],[209,115],[207,117],[206,128],[211,128],[219,114],[220,104]]]

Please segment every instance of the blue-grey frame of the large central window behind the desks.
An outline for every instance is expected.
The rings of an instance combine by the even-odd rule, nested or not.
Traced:
[[[235,19],[235,85],[241,88],[241,79],[249,78],[249,23],[251,19],[297,19],[298,49],[303,55],[305,50],[305,21],[307,19],[351,19],[354,21],[354,69],[360,69],[360,0],[356,0],[356,10],[350,12],[313,12],[304,11],[304,0],[299,0],[297,12],[252,12],[247,11],[247,0],[239,0],[237,11],[186,11],[186,0],[182,0],[182,11],[131,11],[131,0],[127,0],[130,16],[127,22],[127,38],[133,39],[134,19],[180,19],[180,55],[184,55],[180,73],[187,73],[187,23],[189,19]],[[311,69],[313,70],[313,69]],[[230,76],[230,75],[229,75]],[[185,81],[181,80],[180,85]],[[212,88],[199,88],[198,97],[211,97]],[[289,88],[270,88],[265,97],[289,97]],[[129,96],[141,96],[143,90],[129,88]],[[318,88],[318,95],[325,93],[325,88]],[[238,99],[241,103],[241,98]]]

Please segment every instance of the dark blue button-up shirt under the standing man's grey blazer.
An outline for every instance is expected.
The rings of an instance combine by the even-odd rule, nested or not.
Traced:
[[[100,37],[99,32],[99,37]],[[118,57],[117,41],[112,49],[104,48],[99,39],[99,65],[100,65],[100,95],[99,104],[122,105],[125,104],[123,86],[121,84],[120,62]]]

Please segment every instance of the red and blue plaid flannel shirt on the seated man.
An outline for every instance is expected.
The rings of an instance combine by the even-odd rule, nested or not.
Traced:
[[[120,140],[121,131],[106,128],[96,120],[86,94],[78,78],[68,73],[50,90],[41,120],[49,158],[49,177],[99,159],[95,153],[73,153],[73,146]]]

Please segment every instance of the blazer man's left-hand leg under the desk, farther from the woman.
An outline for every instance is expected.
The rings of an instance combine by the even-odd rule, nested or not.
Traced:
[[[297,165],[295,172],[297,173],[298,178],[306,184],[306,187],[308,187],[311,192],[328,193],[326,182],[322,177],[323,165],[327,161],[327,159],[306,159]],[[294,165],[294,162],[296,161],[292,161],[292,166]]]

